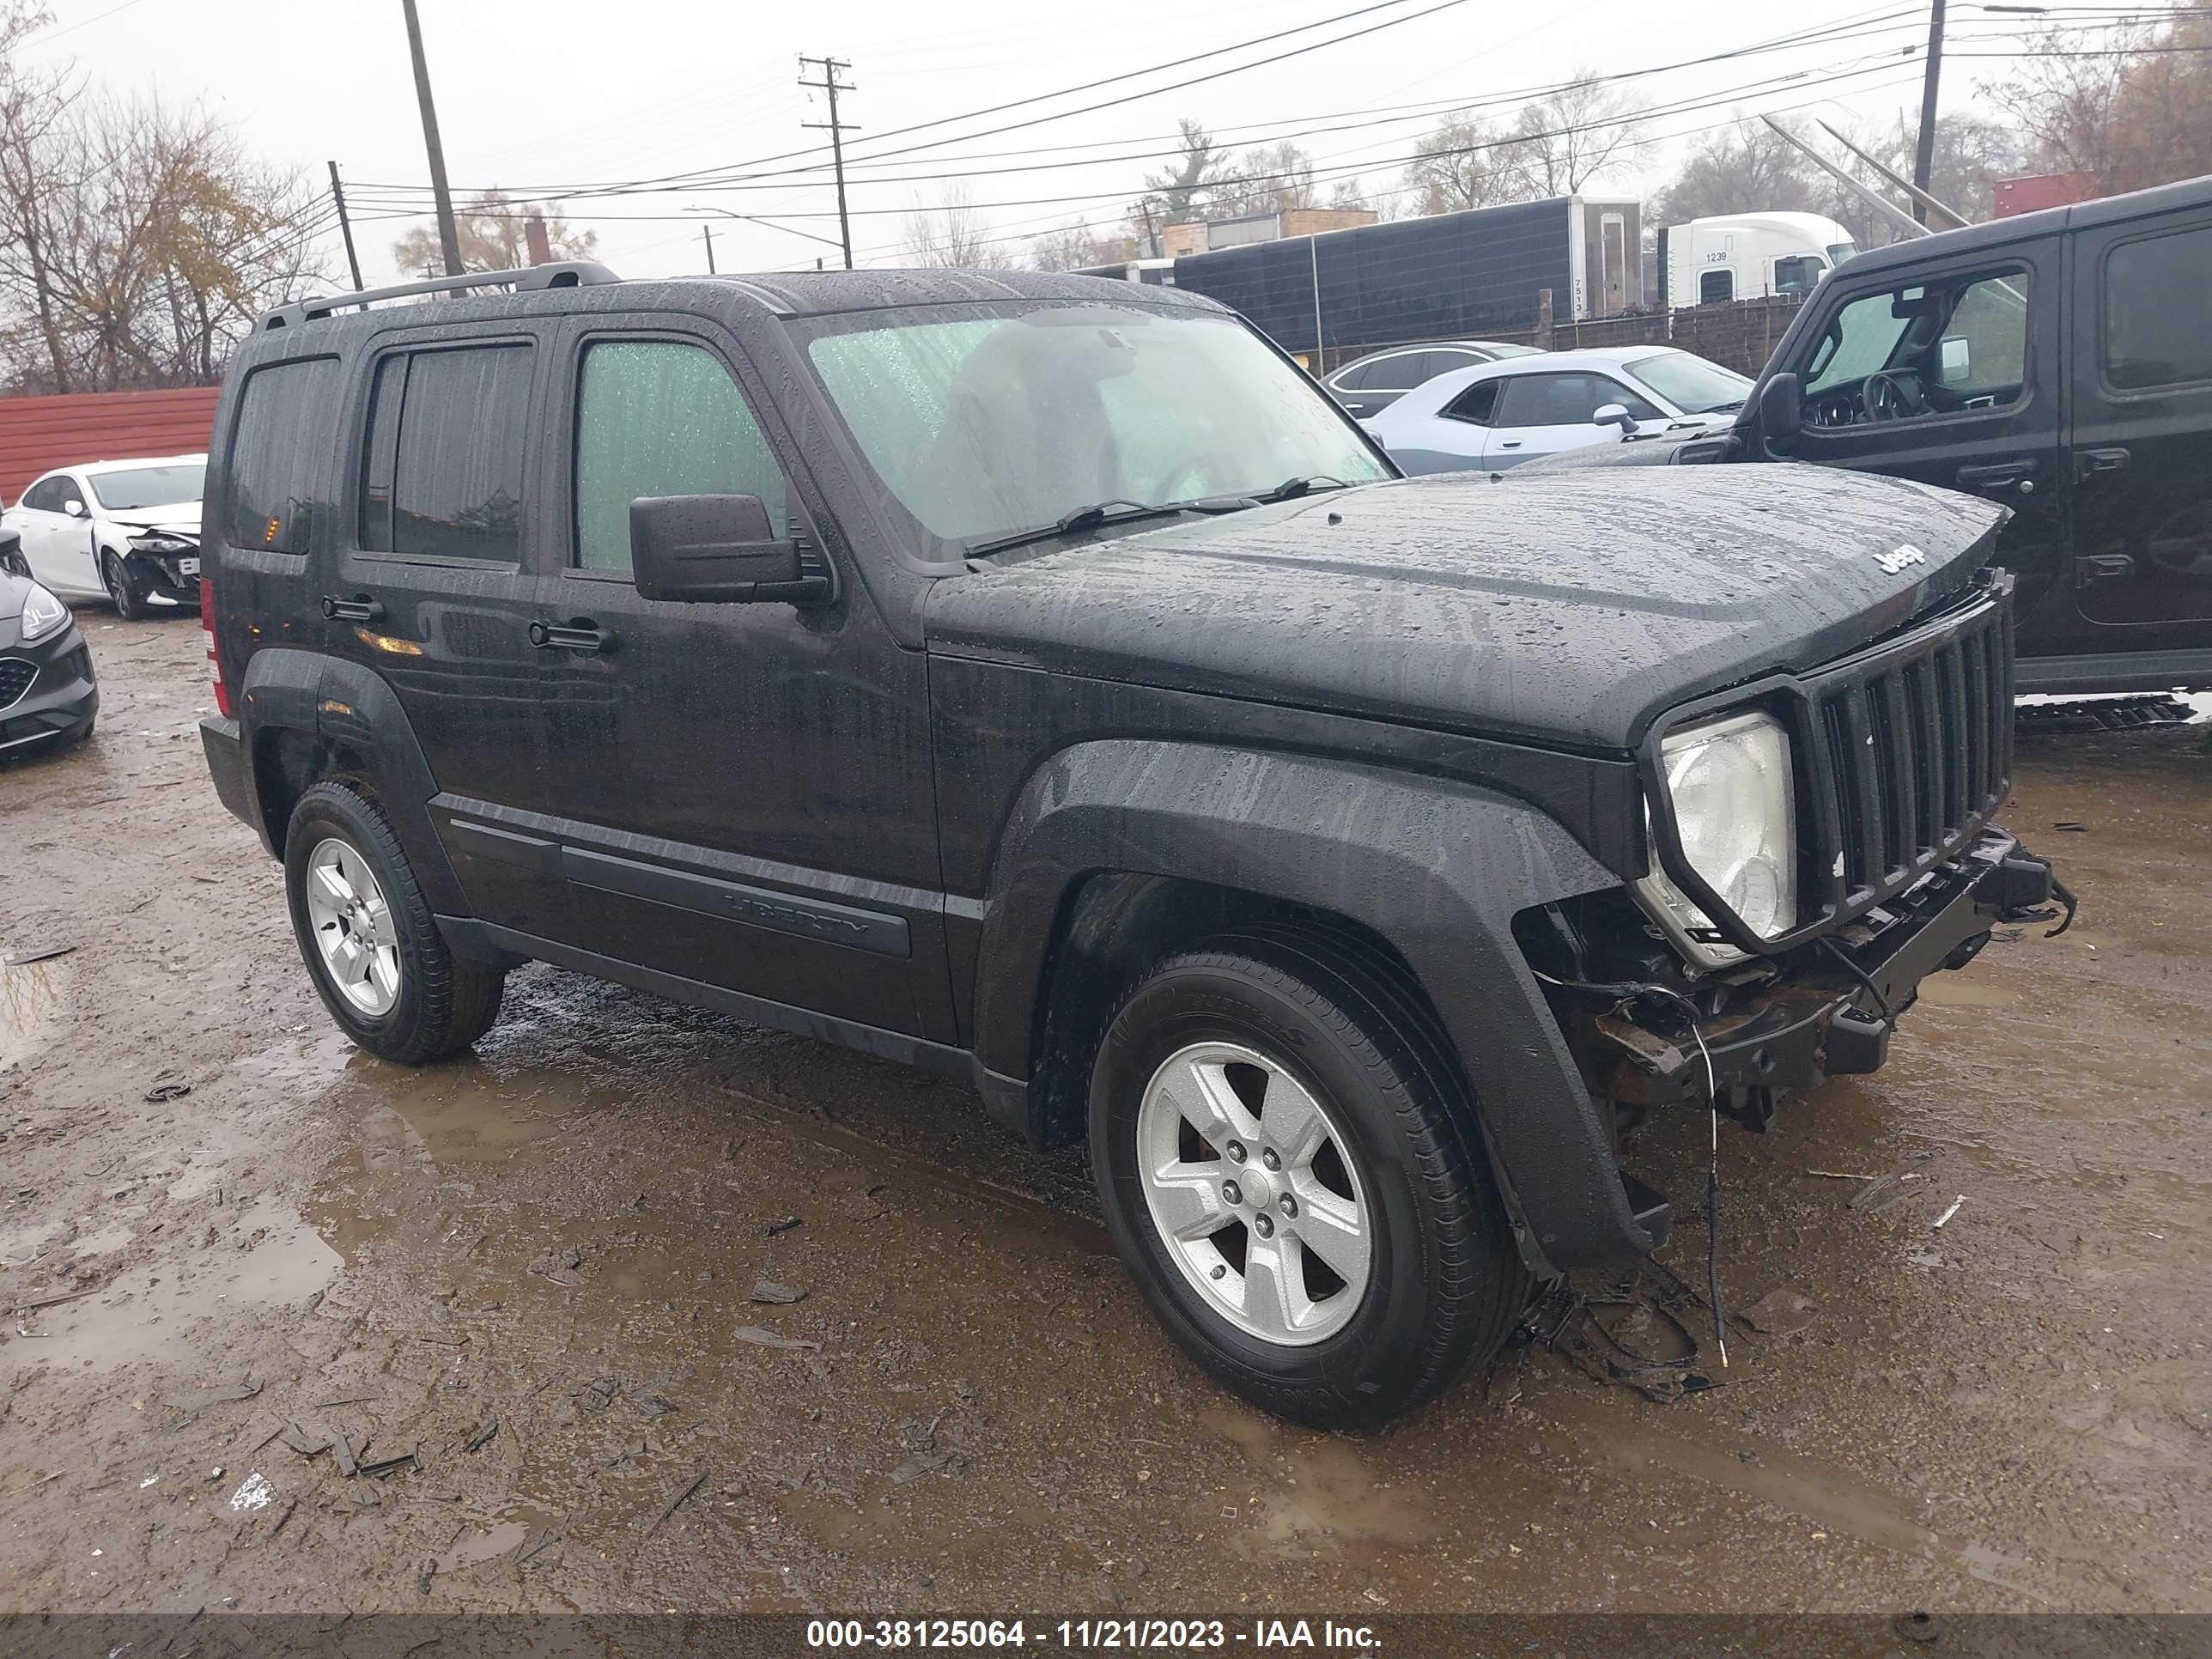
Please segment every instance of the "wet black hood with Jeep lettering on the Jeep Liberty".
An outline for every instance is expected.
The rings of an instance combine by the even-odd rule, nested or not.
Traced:
[[[1621,750],[1672,703],[1814,668],[1958,593],[2004,518],[1829,467],[1440,473],[949,577],[927,635],[1066,675]]]

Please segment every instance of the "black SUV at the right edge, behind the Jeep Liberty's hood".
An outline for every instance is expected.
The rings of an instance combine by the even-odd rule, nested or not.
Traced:
[[[2020,690],[2212,686],[2212,179],[1840,265],[1723,436],[1531,462],[1812,460],[2004,502]]]

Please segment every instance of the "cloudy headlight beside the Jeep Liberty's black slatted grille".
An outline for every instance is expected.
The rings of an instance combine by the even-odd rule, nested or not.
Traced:
[[[1690,869],[1759,938],[1796,927],[1796,790],[1781,723],[1728,714],[1688,726],[1661,739],[1659,772]],[[1708,962],[1743,956],[1663,869],[1644,878],[1644,891]]]

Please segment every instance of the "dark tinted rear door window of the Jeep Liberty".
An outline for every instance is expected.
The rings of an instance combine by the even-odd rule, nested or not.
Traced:
[[[531,347],[396,352],[376,365],[361,546],[522,560]]]

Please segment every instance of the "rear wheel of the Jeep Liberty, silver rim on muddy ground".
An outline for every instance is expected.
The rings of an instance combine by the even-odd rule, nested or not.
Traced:
[[[507,975],[456,958],[376,803],[316,783],[285,832],[292,936],[347,1037],[420,1066],[467,1048],[500,1018]]]

